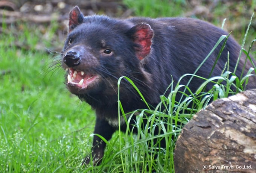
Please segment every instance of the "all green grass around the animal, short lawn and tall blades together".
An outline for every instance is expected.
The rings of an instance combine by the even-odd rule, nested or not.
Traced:
[[[152,1],[157,9],[153,10],[154,14],[151,11],[151,15],[182,15],[181,10],[177,9],[185,8],[184,1],[176,2],[173,6],[168,6],[169,1],[163,1],[164,5],[161,6]],[[136,1],[134,5],[140,7],[137,12],[141,11],[142,15],[151,16],[148,13],[152,6],[148,1],[147,10],[136,3],[146,1]],[[149,119],[146,127],[150,127],[150,131],[139,128],[137,136],[131,135],[128,130],[126,133],[117,131],[108,142],[102,164],[98,167],[88,165],[82,168],[82,159],[91,149],[94,112],[90,106],[79,101],[66,89],[64,70],[51,67],[54,57],[58,57],[58,54],[49,55],[37,50],[40,43],[46,48],[52,46],[51,40],[54,40],[56,24],[52,22],[47,27],[48,38],[44,38],[36,26],[30,27],[24,23],[17,25],[19,30],[15,29],[17,26],[3,24],[3,33],[0,35],[0,172],[130,173],[146,172],[147,168],[156,168],[161,173],[174,171],[174,141],[170,137],[178,134],[181,127],[173,126],[171,122],[180,121],[186,124],[192,117],[192,113],[185,112],[189,103],[194,102],[197,108],[203,108],[208,99],[226,97],[230,85],[235,83],[239,86],[242,81],[239,77],[227,78],[227,73],[223,73],[214,80],[216,85],[212,91],[202,93],[204,83],[198,93],[187,95],[180,103],[174,102],[175,95],[178,89],[183,90],[186,86],[170,86],[171,93],[166,97],[160,97],[162,102],[156,109],[136,112],[136,126],[140,126],[146,112]],[[251,36],[247,38],[248,45],[255,39]],[[15,46],[17,42],[29,49],[18,48]],[[253,55],[255,57],[255,52]],[[222,80],[227,80],[229,85],[222,85]],[[212,81],[213,79],[206,79],[206,82]],[[162,108],[165,108],[164,111],[159,111]],[[189,111],[197,112],[197,109]],[[166,118],[167,121],[163,121],[162,118]],[[129,119],[127,121],[129,122]],[[167,126],[163,126],[164,123],[167,123]],[[167,139],[166,149],[157,150],[158,144],[154,144],[148,150],[148,143],[152,143],[156,138],[152,135],[155,128],[166,131],[165,134],[158,136]],[[152,162],[151,153],[158,152],[160,155],[157,162]]]

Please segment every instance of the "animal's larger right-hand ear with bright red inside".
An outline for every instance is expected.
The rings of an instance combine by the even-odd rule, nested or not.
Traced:
[[[151,51],[151,39],[154,35],[151,26],[146,23],[140,23],[133,26],[126,34],[136,45],[134,49],[136,50],[137,58],[140,60],[145,58]]]

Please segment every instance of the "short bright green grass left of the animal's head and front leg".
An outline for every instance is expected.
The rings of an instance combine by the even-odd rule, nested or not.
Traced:
[[[45,52],[12,46],[40,41],[34,29],[1,35],[0,172],[66,172],[90,150],[94,112],[67,91],[64,71]]]

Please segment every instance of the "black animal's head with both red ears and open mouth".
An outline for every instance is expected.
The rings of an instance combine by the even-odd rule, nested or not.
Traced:
[[[116,92],[121,76],[146,80],[140,64],[151,52],[153,35],[148,24],[133,25],[102,15],[84,17],[76,6],[70,12],[69,33],[62,50],[69,90],[73,94],[109,88]]]

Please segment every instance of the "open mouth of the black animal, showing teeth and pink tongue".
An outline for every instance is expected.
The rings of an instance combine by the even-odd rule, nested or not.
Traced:
[[[95,74],[86,74],[84,71],[75,70],[73,68],[67,68],[69,74],[67,75],[67,83],[78,86],[79,88],[85,89],[98,78]]]

